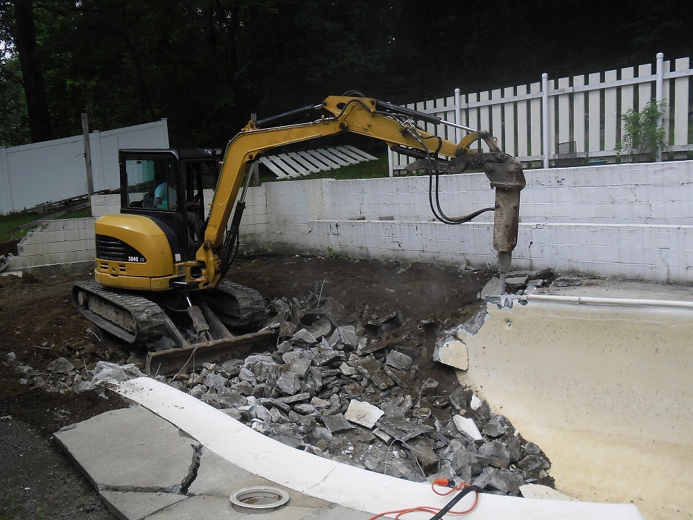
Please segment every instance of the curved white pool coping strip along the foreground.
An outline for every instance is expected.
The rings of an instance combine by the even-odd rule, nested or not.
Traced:
[[[177,426],[205,449],[278,485],[354,510],[378,514],[416,505],[442,507],[450,497],[432,493],[428,483],[414,483],[358,469],[288,447],[265,437],[208,404],[146,377],[120,383],[115,391]],[[468,508],[465,496],[459,508]],[[482,494],[471,518],[642,519],[631,504],[603,504],[547,499],[522,499]],[[412,519],[430,514],[412,513]]]

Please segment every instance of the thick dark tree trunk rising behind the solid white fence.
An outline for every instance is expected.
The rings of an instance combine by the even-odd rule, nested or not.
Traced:
[[[26,112],[29,119],[31,141],[53,139],[51,116],[46,99],[43,73],[36,55],[36,28],[31,0],[13,0],[15,6],[15,46],[19,55]]]

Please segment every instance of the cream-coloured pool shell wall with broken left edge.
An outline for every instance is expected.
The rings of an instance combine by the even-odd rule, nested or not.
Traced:
[[[693,302],[545,294],[486,302],[435,356],[543,449],[556,488],[632,502],[646,518],[693,510]]]

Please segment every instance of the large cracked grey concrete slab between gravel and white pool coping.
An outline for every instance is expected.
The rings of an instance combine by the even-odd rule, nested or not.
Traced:
[[[140,406],[68,428],[53,439],[99,490],[177,493],[197,461],[198,442]]]

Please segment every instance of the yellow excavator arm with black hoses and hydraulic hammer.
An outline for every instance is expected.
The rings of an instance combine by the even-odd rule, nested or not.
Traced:
[[[318,115],[319,113],[322,115]],[[263,128],[311,114],[315,114],[315,119],[310,123]],[[459,144],[455,144],[422,130],[415,121],[446,123],[431,114],[361,96],[330,96],[320,105],[310,105],[263,121],[250,121],[229,143],[222,161],[204,241],[195,255],[197,261],[205,266],[202,277],[198,279],[198,286],[216,286],[230,265],[231,250],[237,240],[240,218],[245,208],[249,166],[277,146],[343,132],[380,139],[398,153],[418,158],[410,168],[429,171],[431,208],[436,218],[442,222],[459,224],[483,211],[495,210],[493,247],[498,251],[498,265],[503,277],[510,269],[511,252],[517,243],[520,190],[525,187],[522,167],[514,157],[502,153],[488,132],[461,127],[471,132]],[[477,153],[471,148],[479,140],[489,146],[490,153]],[[449,159],[441,160],[439,156]],[[489,177],[491,187],[496,189],[495,207],[461,218],[446,216],[437,197],[439,174],[459,173],[470,168],[482,168]],[[435,202],[432,184],[434,178]],[[233,202],[241,189],[243,195],[238,200],[231,227],[227,231]]]

